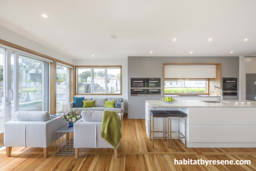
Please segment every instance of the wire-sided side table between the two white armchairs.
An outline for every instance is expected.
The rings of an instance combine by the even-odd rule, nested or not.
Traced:
[[[66,134],[66,140],[63,136]],[[75,155],[75,148],[74,148],[74,127],[69,127],[69,124],[60,127],[55,132],[55,139],[56,135],[59,137],[58,140],[58,150],[56,151],[57,143],[55,141],[55,156],[74,156]],[[62,141],[61,141],[62,140]],[[60,145],[62,146],[60,148]]]

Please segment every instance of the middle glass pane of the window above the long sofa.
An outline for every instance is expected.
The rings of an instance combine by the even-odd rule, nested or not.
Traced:
[[[105,69],[94,69],[94,93],[105,93]]]

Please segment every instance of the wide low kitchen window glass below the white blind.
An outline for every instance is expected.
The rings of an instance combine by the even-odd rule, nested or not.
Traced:
[[[164,94],[208,94],[208,79],[165,79]]]

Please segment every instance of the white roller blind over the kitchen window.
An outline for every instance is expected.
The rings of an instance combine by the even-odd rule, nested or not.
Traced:
[[[216,65],[165,65],[164,78],[216,78]]]

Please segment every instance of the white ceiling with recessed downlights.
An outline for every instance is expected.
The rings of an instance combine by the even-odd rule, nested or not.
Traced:
[[[2,27],[73,59],[256,52],[254,0],[0,0],[0,6]]]

